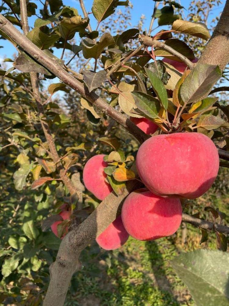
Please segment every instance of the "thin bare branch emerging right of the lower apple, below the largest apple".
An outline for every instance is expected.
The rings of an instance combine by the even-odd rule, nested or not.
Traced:
[[[217,223],[214,224],[209,221],[194,218],[192,216],[187,215],[186,213],[182,214],[182,220],[200,229],[209,229],[209,230],[215,229],[217,232],[229,234],[229,227],[227,226],[217,224]]]

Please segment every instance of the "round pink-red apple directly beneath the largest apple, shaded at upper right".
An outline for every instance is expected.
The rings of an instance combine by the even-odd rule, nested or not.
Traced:
[[[122,222],[137,240],[155,240],[173,235],[182,221],[178,198],[162,198],[149,190],[131,192],[122,206]]]

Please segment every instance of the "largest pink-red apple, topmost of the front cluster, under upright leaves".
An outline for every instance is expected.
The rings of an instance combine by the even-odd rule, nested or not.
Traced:
[[[136,168],[154,194],[195,199],[208,191],[216,179],[219,155],[204,134],[161,134],[140,146]]]

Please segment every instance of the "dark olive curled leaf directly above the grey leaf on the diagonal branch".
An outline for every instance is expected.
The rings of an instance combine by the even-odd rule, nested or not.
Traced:
[[[94,43],[90,38],[82,40],[83,56],[85,59],[97,59],[105,47],[115,43],[110,33],[104,33],[100,40]]]

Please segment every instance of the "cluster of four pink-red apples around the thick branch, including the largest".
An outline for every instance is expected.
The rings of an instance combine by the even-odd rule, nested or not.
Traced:
[[[144,118],[142,122],[145,124]],[[83,170],[85,187],[100,200],[112,191],[105,180],[107,166],[100,154],[90,158]],[[211,187],[219,170],[219,156],[204,134],[161,134],[140,146],[136,168],[146,188],[131,192],[121,216],[96,238],[105,250],[122,246],[129,235],[155,240],[175,233],[182,221],[180,198],[198,198]]]

